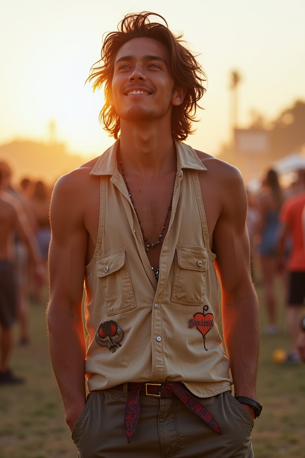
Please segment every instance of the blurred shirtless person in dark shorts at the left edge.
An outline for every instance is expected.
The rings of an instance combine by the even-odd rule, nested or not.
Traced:
[[[26,244],[36,265],[36,278],[42,279],[42,265],[38,246],[23,208],[18,201],[3,191],[0,169],[0,385],[23,383],[24,379],[11,371],[13,324],[17,318],[17,285],[14,273],[14,236],[18,234]]]

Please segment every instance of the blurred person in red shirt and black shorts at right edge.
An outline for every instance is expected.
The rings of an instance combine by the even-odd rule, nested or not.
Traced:
[[[291,196],[284,202],[279,214],[283,223],[279,237],[279,255],[284,252],[286,236],[289,234],[292,249],[288,259],[289,286],[288,286],[288,329],[292,349],[286,362],[299,362],[300,354],[297,348],[299,335],[300,312],[305,305],[305,249],[302,229],[302,212],[305,206],[305,170],[300,172],[302,191]]]

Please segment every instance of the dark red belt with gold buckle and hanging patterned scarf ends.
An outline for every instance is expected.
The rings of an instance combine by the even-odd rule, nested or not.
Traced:
[[[123,391],[123,384],[113,387]],[[134,436],[140,413],[140,394],[155,398],[172,398],[177,396],[194,414],[202,418],[210,428],[222,434],[221,428],[213,415],[202,403],[200,403],[181,382],[165,383],[128,383],[130,391],[125,406],[125,433],[129,443]]]

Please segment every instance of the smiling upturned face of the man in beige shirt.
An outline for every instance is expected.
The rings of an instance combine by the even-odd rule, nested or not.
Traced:
[[[118,50],[111,104],[121,122],[170,119],[176,92],[164,44],[153,38],[133,38]]]

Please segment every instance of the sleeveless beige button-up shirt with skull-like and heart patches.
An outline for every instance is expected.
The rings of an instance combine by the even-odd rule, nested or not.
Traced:
[[[206,168],[182,142],[159,281],[117,166],[117,141],[97,160],[100,224],[86,266],[88,389],[124,382],[183,382],[195,395],[230,390],[229,360],[215,319],[219,290],[198,173]]]

